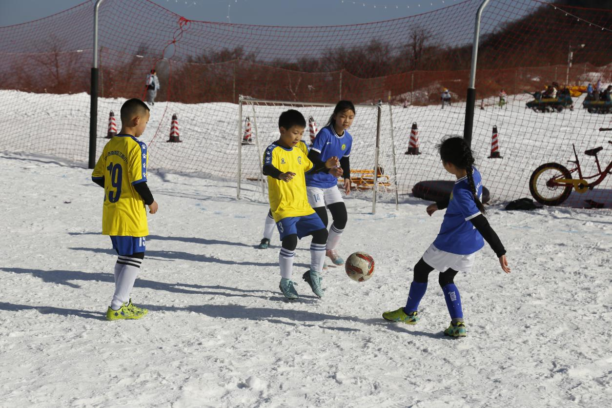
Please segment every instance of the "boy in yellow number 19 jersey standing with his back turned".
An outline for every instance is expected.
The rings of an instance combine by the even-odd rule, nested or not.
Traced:
[[[157,202],[147,186],[147,146],[136,139],[148,121],[146,103],[135,98],[127,100],[121,106],[121,131],[106,143],[91,174],[95,184],[104,188],[102,234],[111,237],[118,254],[107,320],[140,319],[148,313],[130,299],[149,234],[145,204],[150,213],[157,212]]]

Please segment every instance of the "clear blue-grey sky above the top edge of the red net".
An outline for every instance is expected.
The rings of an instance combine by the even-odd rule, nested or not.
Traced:
[[[20,24],[47,17],[81,4],[83,1],[0,0],[0,26]],[[460,1],[154,0],[153,2],[188,20],[274,26],[333,26],[407,17],[441,9]]]

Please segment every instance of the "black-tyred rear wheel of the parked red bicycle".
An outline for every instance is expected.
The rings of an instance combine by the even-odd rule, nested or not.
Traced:
[[[552,184],[554,179],[571,179],[572,173],[559,163],[546,163],[531,174],[529,191],[535,201],[545,206],[558,206],[572,193],[571,184]]]

